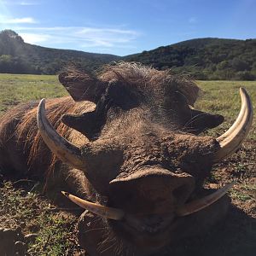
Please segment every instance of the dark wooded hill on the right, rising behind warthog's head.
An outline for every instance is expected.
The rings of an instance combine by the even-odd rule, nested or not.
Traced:
[[[128,55],[158,69],[187,71],[196,79],[256,79],[256,39],[198,38]]]

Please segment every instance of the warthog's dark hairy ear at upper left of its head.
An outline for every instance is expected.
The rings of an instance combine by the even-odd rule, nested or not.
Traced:
[[[88,73],[77,70],[68,70],[59,74],[59,81],[67,89],[75,102],[98,102],[107,84],[94,78]]]

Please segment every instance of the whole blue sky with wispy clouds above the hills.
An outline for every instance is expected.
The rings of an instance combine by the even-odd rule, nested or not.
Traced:
[[[0,30],[61,49],[129,55],[191,38],[256,38],[256,0],[0,0]]]

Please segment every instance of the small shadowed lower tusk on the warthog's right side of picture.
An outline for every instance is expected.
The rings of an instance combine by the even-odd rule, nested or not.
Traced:
[[[207,195],[201,199],[191,201],[183,205],[182,207],[177,209],[176,211],[177,216],[179,217],[187,216],[189,214],[198,212],[206,207],[211,206],[212,203],[214,203],[215,201],[218,201],[218,199],[223,197],[228,192],[228,190],[232,188],[234,184],[235,182],[227,184],[223,188],[218,189],[217,191],[212,193],[211,195]]]

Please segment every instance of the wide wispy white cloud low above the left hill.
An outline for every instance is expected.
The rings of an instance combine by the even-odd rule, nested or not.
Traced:
[[[16,29],[26,43],[51,45],[51,47],[69,47],[84,49],[134,49],[132,42],[139,33],[128,29],[98,28],[79,26],[55,27],[19,27]],[[59,46],[60,45],[60,46]]]

